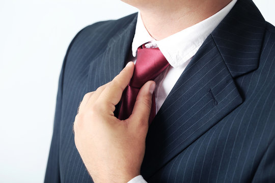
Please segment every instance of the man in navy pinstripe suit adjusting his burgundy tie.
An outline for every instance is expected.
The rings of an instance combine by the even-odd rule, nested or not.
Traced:
[[[45,182],[273,182],[275,27],[250,0],[125,2],[68,48]]]

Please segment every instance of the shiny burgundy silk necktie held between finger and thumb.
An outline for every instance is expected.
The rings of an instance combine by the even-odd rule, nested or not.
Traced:
[[[133,76],[125,88],[119,119],[127,119],[133,110],[134,103],[141,87],[150,80],[154,80],[163,72],[169,63],[158,48],[146,48],[144,45],[137,49],[136,63]],[[149,125],[156,115],[155,93],[152,96],[152,108],[149,117]]]

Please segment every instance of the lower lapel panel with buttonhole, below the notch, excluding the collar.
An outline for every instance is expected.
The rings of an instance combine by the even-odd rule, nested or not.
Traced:
[[[149,127],[143,175],[152,175],[241,103],[233,78],[209,36]]]

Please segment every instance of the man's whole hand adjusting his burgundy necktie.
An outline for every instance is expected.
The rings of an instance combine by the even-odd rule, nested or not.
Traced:
[[[140,89],[128,119],[114,116],[133,70],[130,62],[113,81],[86,94],[75,116],[75,145],[96,183],[127,182],[140,175],[154,81]]]

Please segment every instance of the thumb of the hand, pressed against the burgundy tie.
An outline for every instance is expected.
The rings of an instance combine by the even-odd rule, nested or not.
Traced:
[[[155,89],[155,82],[148,81],[140,89],[139,94],[136,97],[136,101],[133,107],[132,114],[129,119],[135,121],[136,126],[144,126],[148,128],[148,121],[152,106],[152,95]]]

